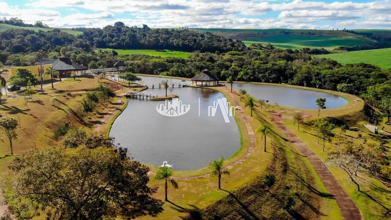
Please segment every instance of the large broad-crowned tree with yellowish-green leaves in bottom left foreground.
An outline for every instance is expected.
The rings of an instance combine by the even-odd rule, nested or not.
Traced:
[[[10,169],[3,189],[19,219],[40,213],[62,220],[134,218],[154,193],[147,186],[149,168],[113,148],[32,150]]]

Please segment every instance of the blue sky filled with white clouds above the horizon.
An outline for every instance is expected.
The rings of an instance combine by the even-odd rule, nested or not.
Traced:
[[[391,0],[7,0],[1,17],[50,27],[391,29]]]

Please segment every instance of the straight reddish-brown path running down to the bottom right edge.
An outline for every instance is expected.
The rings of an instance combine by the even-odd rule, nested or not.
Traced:
[[[259,114],[262,112],[256,110]],[[326,164],[321,160],[311,148],[307,146],[298,136],[296,136],[285,124],[283,120],[285,118],[281,115],[280,112],[269,112],[272,116],[271,121],[286,135],[290,142],[292,142],[297,149],[299,149],[304,157],[308,159],[316,174],[322,180],[323,184],[326,186],[326,189],[334,197],[335,202],[337,202],[339,209],[342,213],[342,218],[344,220],[364,220],[364,216],[352,200],[352,198],[346,193],[345,189],[341,186],[338,180],[334,177],[333,173],[326,166]],[[262,114],[264,115],[264,114]]]

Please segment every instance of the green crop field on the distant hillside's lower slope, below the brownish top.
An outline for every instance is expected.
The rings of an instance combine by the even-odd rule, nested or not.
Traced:
[[[253,41],[254,43],[258,42],[268,42],[271,44],[285,44],[287,48],[298,46],[305,47],[324,47],[325,49],[334,49],[341,46],[357,46],[357,45],[366,45],[370,41],[362,38],[341,38],[336,36],[286,36],[286,35],[276,35],[276,36],[266,36],[262,38],[250,38],[246,39],[247,41]],[[276,45],[278,46],[278,45]],[[281,45],[281,47],[284,47]]]

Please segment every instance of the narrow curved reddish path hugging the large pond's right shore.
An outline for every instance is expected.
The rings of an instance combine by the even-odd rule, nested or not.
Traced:
[[[231,93],[231,89],[230,88],[228,88],[228,87],[221,87],[221,89],[226,91],[226,92],[228,92],[230,94],[230,96],[233,98],[233,100],[235,102],[235,106],[240,106],[239,102],[237,101],[237,97],[234,94]],[[249,146],[248,151],[246,152],[246,154],[243,155],[243,157],[240,157],[239,160],[236,160],[235,162],[231,163],[230,165],[224,167],[224,170],[230,170],[230,169],[234,168],[235,166],[238,166],[239,164],[241,164],[242,162],[247,160],[254,153],[254,150],[255,150],[255,134],[254,134],[253,128],[251,128],[251,124],[248,121],[248,118],[244,114],[244,112],[241,109],[237,110],[237,111],[240,113],[240,116],[242,116],[243,121],[246,124],[247,132],[248,132],[249,137],[250,137],[250,146]],[[210,173],[207,173],[207,174],[204,174],[204,175],[195,176],[195,177],[172,177],[172,179],[174,179],[174,180],[196,180],[196,179],[202,179],[202,178],[206,178],[206,177],[210,177]]]

